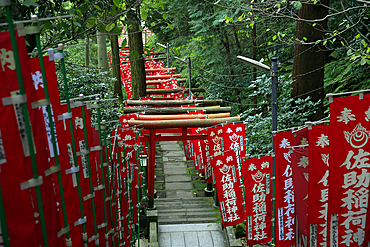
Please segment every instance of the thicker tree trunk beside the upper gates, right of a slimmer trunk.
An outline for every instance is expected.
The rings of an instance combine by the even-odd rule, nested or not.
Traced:
[[[143,38],[140,31],[138,8],[127,12],[128,44],[131,59],[132,98],[140,99],[146,96],[146,75],[143,58]]]

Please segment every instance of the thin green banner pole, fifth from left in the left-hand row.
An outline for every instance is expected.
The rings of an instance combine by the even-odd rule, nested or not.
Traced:
[[[99,101],[99,99],[97,99],[97,101]],[[105,124],[105,121],[102,123],[101,121],[101,113],[100,113],[100,107],[98,104],[96,104],[98,107],[97,107],[97,112],[98,112],[98,134],[99,134],[99,146],[103,147],[103,142],[102,142],[102,133],[101,133],[101,130],[102,130],[102,124],[104,125]],[[105,125],[103,126],[103,128],[105,129]],[[109,242],[108,242],[108,216],[107,216],[107,205],[106,205],[106,202],[105,202],[105,175],[104,175],[104,167],[105,167],[105,164],[107,164],[108,166],[108,157],[105,156],[106,159],[107,159],[107,162],[104,163],[104,159],[103,159],[103,149],[100,149],[100,172],[101,172],[101,185],[102,185],[102,191],[103,191],[103,210],[104,210],[104,223],[105,224],[105,246],[108,247],[109,246]]]

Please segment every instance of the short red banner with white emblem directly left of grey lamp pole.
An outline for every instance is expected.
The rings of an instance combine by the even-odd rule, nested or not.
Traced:
[[[268,243],[272,239],[272,157],[243,162],[247,210],[247,245]]]

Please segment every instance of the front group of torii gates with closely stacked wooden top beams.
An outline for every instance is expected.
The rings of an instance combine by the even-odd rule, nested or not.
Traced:
[[[163,91],[160,91],[163,93]],[[148,162],[148,210],[155,209],[155,143],[159,141],[205,140],[207,135],[189,134],[190,128],[206,128],[223,123],[232,123],[240,117],[230,117],[231,107],[222,107],[222,100],[127,100],[124,113],[145,113],[138,120],[128,120],[130,127],[140,127],[141,142],[149,143]],[[181,107],[184,105],[203,105],[203,107]],[[134,107],[140,106],[140,107]],[[164,107],[166,106],[166,107]],[[181,115],[190,111],[203,111],[200,115]],[[162,134],[180,135],[162,135]]]

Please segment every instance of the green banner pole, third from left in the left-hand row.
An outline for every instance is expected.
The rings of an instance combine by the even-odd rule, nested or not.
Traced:
[[[63,45],[59,44],[58,45],[59,53],[63,53]],[[69,91],[68,91],[68,83],[67,83],[67,75],[66,75],[66,67],[64,63],[64,56],[60,59],[60,64],[62,67],[62,75],[63,75],[63,82],[64,82],[64,92],[65,92],[65,97],[66,97],[66,103],[67,103],[67,111],[68,114],[72,115],[71,111],[71,102],[69,101]],[[71,146],[72,146],[72,152],[73,152],[73,160],[74,160],[74,166],[79,167],[77,163],[77,153],[76,153],[76,139],[75,139],[75,133],[74,133],[74,128],[73,128],[73,119],[72,117],[68,119],[69,121],[69,130],[71,132]],[[78,201],[79,201],[79,206],[80,206],[80,214],[81,214],[81,219],[80,222],[82,222],[82,239],[84,241],[84,245],[87,246],[87,233],[86,233],[86,218],[84,214],[84,209],[83,209],[83,202],[82,202],[82,192],[81,192],[81,182],[80,182],[80,176],[79,176],[79,171],[76,171],[76,181],[77,181],[77,191],[78,191]],[[78,221],[75,222],[75,225],[80,224]]]

